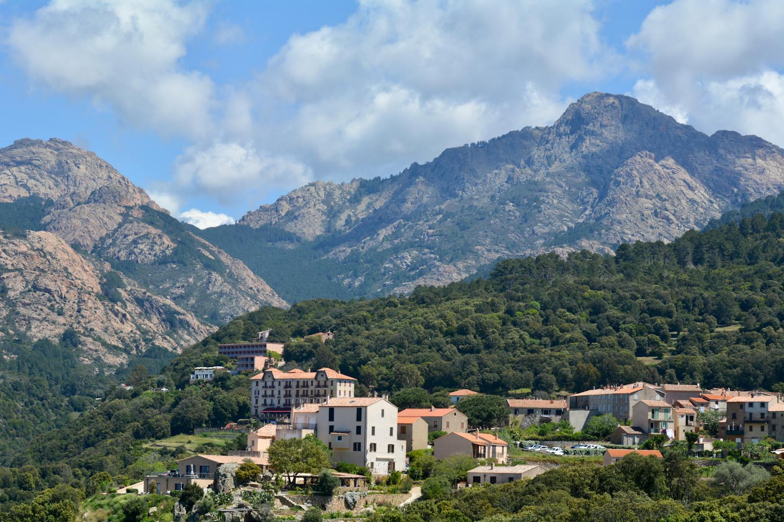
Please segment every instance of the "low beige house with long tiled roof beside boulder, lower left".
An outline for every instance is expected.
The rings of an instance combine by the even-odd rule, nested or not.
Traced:
[[[227,455],[193,455],[177,461],[176,471],[167,471],[144,477],[144,492],[163,494],[166,491],[181,491],[186,484],[195,483],[209,488],[215,480],[218,466],[226,463],[244,463],[249,460],[263,470],[270,465],[266,457],[238,457]]]

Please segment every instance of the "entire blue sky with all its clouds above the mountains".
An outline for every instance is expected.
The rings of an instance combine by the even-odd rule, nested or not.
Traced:
[[[67,139],[198,226],[551,124],[590,91],[784,145],[784,2],[0,2],[0,145]]]

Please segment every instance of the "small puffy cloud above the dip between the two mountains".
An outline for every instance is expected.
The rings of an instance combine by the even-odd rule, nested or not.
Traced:
[[[312,175],[296,160],[222,141],[189,147],[177,158],[175,171],[181,190],[206,193],[223,203],[257,201],[270,187],[299,186]]]

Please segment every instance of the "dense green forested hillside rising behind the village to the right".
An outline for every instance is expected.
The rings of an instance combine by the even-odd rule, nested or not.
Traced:
[[[344,373],[379,391],[426,386],[551,393],[634,380],[784,386],[784,214],[757,215],[665,244],[502,261],[488,279],[410,297],[263,308],[173,363],[262,328],[302,337],[332,329]],[[313,345],[286,345],[305,367]]]

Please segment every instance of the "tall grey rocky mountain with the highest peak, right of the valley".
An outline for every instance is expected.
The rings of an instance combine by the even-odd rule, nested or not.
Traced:
[[[448,149],[392,178],[316,182],[233,226],[295,234],[302,244],[279,246],[342,265],[347,295],[376,295],[450,283],[499,257],[670,241],[781,189],[778,146],[594,92],[551,127]]]

